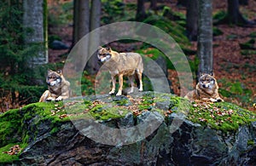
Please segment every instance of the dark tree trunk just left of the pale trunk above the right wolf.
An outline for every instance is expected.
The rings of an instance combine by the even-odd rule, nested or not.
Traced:
[[[188,1],[187,7],[187,36],[189,40],[196,41],[197,40],[197,25],[198,25],[198,2]]]

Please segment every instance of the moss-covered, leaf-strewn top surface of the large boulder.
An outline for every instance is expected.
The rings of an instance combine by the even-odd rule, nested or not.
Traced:
[[[200,123],[204,128],[223,133],[236,132],[240,126],[256,121],[253,112],[226,102],[191,104],[189,100],[174,94],[154,92],[119,97],[108,94],[90,95],[65,102],[34,103],[3,113],[0,115],[0,152],[6,152],[16,144],[24,149],[45,133],[55,135],[61,130],[61,124],[70,120],[88,118],[116,127],[120,121],[126,122],[121,119],[132,114],[134,120],[131,122],[137,125],[137,117],[143,112],[160,113],[166,124],[173,113],[182,113],[192,123]],[[5,158],[0,161],[13,163],[19,160],[19,155],[20,153],[15,156],[0,153],[0,158]]]

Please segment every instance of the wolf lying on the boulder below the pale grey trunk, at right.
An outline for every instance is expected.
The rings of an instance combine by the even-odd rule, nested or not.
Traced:
[[[212,102],[224,101],[218,95],[218,83],[213,74],[201,74],[199,83],[194,90],[185,95],[185,98],[194,100],[205,100]]]

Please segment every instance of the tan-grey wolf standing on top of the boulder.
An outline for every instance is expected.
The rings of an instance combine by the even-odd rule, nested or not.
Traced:
[[[121,95],[123,89],[123,76],[128,76],[131,82],[131,94],[134,90],[134,75],[137,74],[139,79],[139,91],[143,91],[143,58],[137,53],[118,53],[111,48],[98,49],[98,60],[100,60],[108,68],[112,78],[112,89],[109,94],[113,94],[115,90],[116,76],[119,77],[119,90],[116,94]]]

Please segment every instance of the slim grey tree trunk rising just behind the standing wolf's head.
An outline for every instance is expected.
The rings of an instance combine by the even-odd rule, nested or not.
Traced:
[[[96,28],[101,26],[101,11],[102,11],[102,3],[101,0],[93,0],[91,1],[91,9],[90,9],[90,31],[95,30]],[[88,60],[86,65],[86,71],[89,74],[95,74],[100,66],[98,64],[95,48],[98,48],[100,44],[100,34],[90,33],[90,45],[89,45],[89,54],[92,54],[90,60]]]

